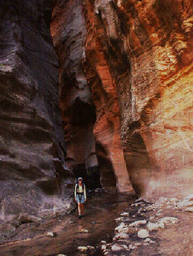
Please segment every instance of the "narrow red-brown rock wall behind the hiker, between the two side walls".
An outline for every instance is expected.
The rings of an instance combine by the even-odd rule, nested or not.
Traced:
[[[85,23],[82,1],[58,1],[52,17],[51,33],[59,55],[66,163],[81,175],[84,169],[99,165],[103,187],[130,191],[120,145],[116,90],[97,35],[87,34],[91,29]],[[99,43],[99,49],[85,46],[90,41]]]

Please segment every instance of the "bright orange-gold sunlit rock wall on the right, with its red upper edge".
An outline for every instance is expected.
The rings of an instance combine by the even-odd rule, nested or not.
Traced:
[[[85,74],[104,156],[122,158],[121,138],[133,188],[145,199],[190,193],[192,1],[84,0],[83,10]]]

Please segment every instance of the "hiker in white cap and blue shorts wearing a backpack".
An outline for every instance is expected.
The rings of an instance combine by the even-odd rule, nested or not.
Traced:
[[[81,177],[75,185],[75,201],[78,203],[78,218],[81,219],[84,211],[83,204],[86,202],[86,186]]]

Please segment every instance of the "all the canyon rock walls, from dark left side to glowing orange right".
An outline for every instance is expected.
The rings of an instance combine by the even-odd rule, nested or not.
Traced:
[[[69,214],[78,177],[150,203],[192,193],[192,1],[0,6],[2,222]]]

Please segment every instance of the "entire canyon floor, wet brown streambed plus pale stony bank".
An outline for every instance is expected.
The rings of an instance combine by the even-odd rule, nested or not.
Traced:
[[[179,205],[193,201],[181,202],[160,198],[148,204],[135,195],[91,193],[82,219],[76,210],[23,223],[4,238],[0,255],[192,255],[192,212],[184,212]],[[139,237],[144,229],[148,235],[142,232]],[[83,246],[80,251],[78,246]]]

